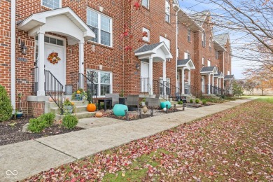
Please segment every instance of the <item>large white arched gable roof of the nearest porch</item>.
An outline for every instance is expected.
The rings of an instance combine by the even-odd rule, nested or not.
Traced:
[[[73,38],[69,44],[94,38],[94,32],[76,15],[71,8],[59,8],[35,13],[18,24],[18,29],[28,31],[29,36],[41,32],[54,32]]]

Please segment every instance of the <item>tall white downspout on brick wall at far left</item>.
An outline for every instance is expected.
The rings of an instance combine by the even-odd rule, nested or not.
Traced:
[[[15,113],[15,24],[16,24],[16,0],[11,0],[10,13],[10,99],[13,106],[13,114]]]

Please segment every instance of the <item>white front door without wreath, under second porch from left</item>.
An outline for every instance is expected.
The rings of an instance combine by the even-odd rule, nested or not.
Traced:
[[[149,92],[149,64],[141,62],[141,92]]]

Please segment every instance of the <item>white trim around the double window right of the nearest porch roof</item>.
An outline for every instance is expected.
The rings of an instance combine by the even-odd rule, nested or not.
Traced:
[[[98,27],[98,42],[94,42],[94,41],[91,41],[91,40],[89,40],[89,41],[91,41],[91,42],[93,42],[93,43],[98,43],[98,44],[100,44],[100,45],[104,45],[104,44],[102,44],[101,43],[101,30],[102,30],[102,28],[101,28],[101,15],[103,15],[103,16],[105,16],[106,18],[109,18],[110,19],[110,46],[109,45],[104,45],[104,46],[107,46],[107,47],[110,47],[110,48],[113,48],[113,18],[111,18],[111,17],[109,17],[108,15],[105,15],[105,14],[103,14],[103,13],[100,13],[99,11],[97,11],[97,10],[94,10],[94,9],[92,9],[92,8],[89,8],[89,7],[87,7],[87,10],[86,10],[86,24],[87,24],[87,11],[88,10],[91,10],[91,11],[94,11],[95,13],[97,13],[98,14],[98,25],[99,25],[99,27]],[[88,24],[87,24],[88,25]],[[89,25],[89,26],[91,26],[91,25]]]

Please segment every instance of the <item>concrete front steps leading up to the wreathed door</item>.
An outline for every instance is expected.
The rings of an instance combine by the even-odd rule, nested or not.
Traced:
[[[75,110],[74,110],[74,115],[78,118],[78,119],[83,119],[83,118],[90,118],[92,116],[94,116],[96,114],[96,112],[88,112],[86,110],[87,101],[71,101],[74,103],[75,106]],[[48,109],[48,113],[55,113],[55,120],[60,120],[62,118],[64,118],[64,115],[60,115],[60,110],[57,107],[57,105],[54,102],[45,102],[45,105],[47,106]]]

